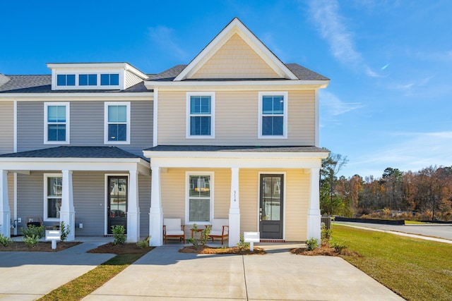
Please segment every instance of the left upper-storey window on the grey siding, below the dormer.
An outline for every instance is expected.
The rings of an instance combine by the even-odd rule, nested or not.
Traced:
[[[69,144],[69,102],[44,103],[44,144]]]

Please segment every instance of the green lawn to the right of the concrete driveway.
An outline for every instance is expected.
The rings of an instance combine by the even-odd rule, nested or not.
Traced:
[[[362,257],[343,256],[407,300],[452,300],[452,245],[347,226],[333,240]]]

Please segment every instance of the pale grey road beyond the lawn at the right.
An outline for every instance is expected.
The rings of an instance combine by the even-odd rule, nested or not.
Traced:
[[[387,231],[398,231],[403,233],[432,236],[452,240],[452,224],[428,224],[428,225],[380,225],[379,223],[352,223],[348,221],[335,221],[333,223],[347,223],[349,225],[366,228],[376,228]]]

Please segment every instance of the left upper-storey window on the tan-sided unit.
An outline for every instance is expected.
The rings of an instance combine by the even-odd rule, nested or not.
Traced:
[[[189,92],[186,103],[186,137],[215,138],[215,92]]]

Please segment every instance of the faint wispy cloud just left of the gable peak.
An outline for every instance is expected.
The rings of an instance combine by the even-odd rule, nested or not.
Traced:
[[[177,59],[186,61],[189,59],[188,54],[184,49],[179,47],[174,39],[174,30],[172,28],[158,25],[156,27],[149,27],[149,37],[152,41],[162,48],[167,54],[174,55]]]

